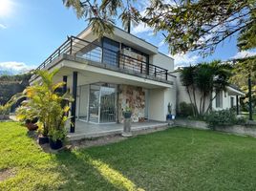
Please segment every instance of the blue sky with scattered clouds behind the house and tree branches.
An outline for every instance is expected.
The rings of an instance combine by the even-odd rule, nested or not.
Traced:
[[[142,12],[143,5],[139,7]],[[63,6],[62,0],[0,0],[0,72],[23,73],[42,63],[60,46],[68,35],[76,35],[87,27],[87,22],[77,19],[75,11]],[[117,26],[121,27],[120,22]],[[170,55],[161,34],[153,35],[143,24],[132,28],[132,33],[159,47],[161,53]],[[170,55],[175,66],[187,66],[213,59],[253,55],[239,53],[236,36],[220,44],[216,52],[203,58],[196,53]]]

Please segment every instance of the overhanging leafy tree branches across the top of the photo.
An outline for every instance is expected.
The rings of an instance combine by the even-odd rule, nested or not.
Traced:
[[[85,17],[98,35],[113,32],[117,18],[144,23],[162,32],[172,53],[200,50],[213,53],[218,44],[237,32],[242,47],[255,47],[255,0],[152,0],[139,12],[136,0],[63,0],[78,17]]]

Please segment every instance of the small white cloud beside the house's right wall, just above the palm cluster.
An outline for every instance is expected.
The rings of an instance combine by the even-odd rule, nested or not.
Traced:
[[[171,56],[174,58],[175,68],[196,64],[200,59],[195,53],[177,53]]]

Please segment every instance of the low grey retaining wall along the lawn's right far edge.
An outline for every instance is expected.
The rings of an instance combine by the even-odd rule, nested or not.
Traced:
[[[200,120],[176,119],[174,121],[174,125],[187,127],[187,128],[209,130],[207,123]],[[256,138],[256,126],[253,127],[249,125],[233,125],[233,126],[216,127],[215,130],[220,132],[225,132],[225,133],[251,136]]]

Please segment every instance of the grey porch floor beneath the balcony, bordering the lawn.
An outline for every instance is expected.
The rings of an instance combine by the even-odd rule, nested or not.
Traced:
[[[132,123],[132,132],[157,129],[161,127],[167,127],[168,123],[149,120],[145,122],[134,122]],[[81,120],[75,121],[75,133],[69,133],[69,140],[79,140],[83,138],[99,138],[110,135],[121,134],[123,130],[122,123],[108,123],[108,124],[93,124],[84,122]]]

